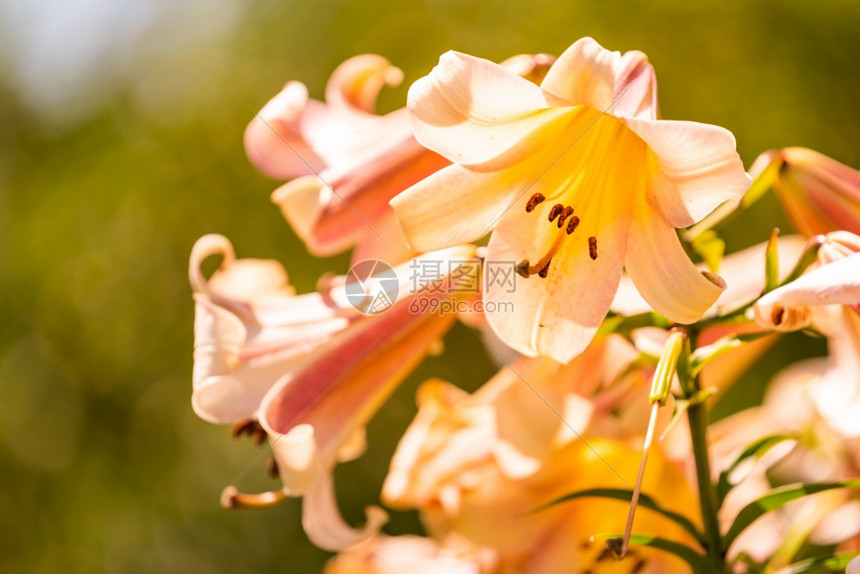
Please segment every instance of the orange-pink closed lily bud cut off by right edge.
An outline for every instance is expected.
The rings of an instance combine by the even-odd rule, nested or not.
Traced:
[[[772,178],[788,217],[807,237],[860,233],[860,171],[817,151],[790,147],[761,154],[750,173]]]

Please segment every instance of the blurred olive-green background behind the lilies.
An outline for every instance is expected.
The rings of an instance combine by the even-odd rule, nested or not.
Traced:
[[[189,404],[196,238],[223,233],[240,257],[281,260],[300,291],[347,265],[310,258],[270,203],[277,183],[245,159],[250,113],[228,82],[258,109],[290,79],[321,97],[338,63],[376,52],[406,74],[388,111],[446,50],[501,60],[591,35],[647,53],[663,116],[726,126],[747,165],[804,145],[858,166],[858,30],[854,0],[0,1],[0,572],[304,573],[326,558],[299,501],[220,509],[258,449]],[[731,248],[785,225],[772,199],[749,218],[758,235],[736,226]],[[493,372],[464,329],[447,348],[338,471],[353,520],[378,497],[416,385],[475,388]],[[264,468],[240,489],[275,487]],[[391,532],[418,528],[393,515]]]

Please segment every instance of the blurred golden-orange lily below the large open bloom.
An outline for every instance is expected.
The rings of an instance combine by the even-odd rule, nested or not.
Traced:
[[[573,390],[598,390],[613,376],[592,361],[603,353],[597,351],[580,361],[587,350],[567,366],[521,359],[472,395],[441,381],[425,383],[418,414],[392,459],[383,500],[420,510],[437,539],[454,534],[491,549],[499,572],[597,572],[614,565],[611,552],[593,537],[623,530],[624,503],[581,499],[534,512],[573,491],[623,488],[622,481],[632,483],[636,474],[635,447],[592,438],[587,429],[601,416],[600,407]],[[618,369],[612,357],[618,355],[607,355],[605,364]],[[693,499],[683,475],[659,453],[654,457],[644,490],[685,513]],[[677,525],[647,510],[636,524],[638,532],[691,543]],[[634,549],[626,560],[618,565],[624,571],[688,571],[674,556],[647,548]]]

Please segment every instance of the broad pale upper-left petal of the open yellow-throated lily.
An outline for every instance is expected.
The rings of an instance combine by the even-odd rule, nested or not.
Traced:
[[[514,72],[457,52],[412,84],[408,109],[422,145],[481,171],[522,159],[533,132],[567,113],[549,109],[540,88]]]

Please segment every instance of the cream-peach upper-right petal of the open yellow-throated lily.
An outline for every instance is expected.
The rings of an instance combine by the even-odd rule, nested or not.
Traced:
[[[673,227],[688,227],[725,201],[738,200],[750,177],[725,128],[685,121],[624,120],[654,152],[657,204]]]

